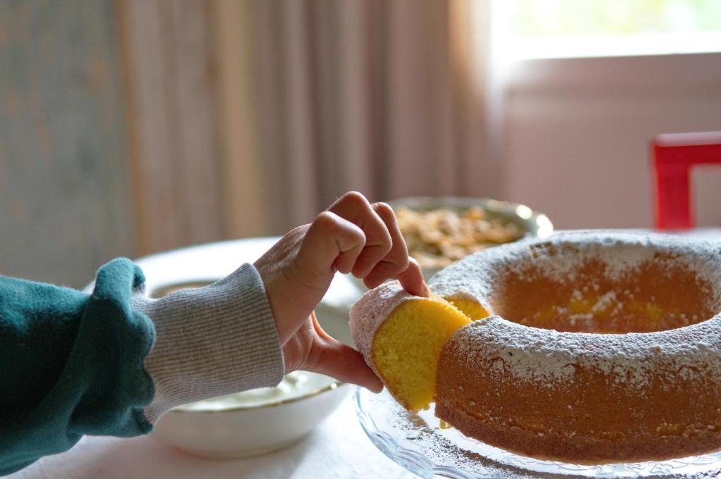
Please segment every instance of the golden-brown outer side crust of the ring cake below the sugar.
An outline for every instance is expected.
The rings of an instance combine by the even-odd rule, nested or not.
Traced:
[[[495,320],[463,329],[473,335],[473,329],[493,328],[484,323]],[[464,340],[451,338],[441,353],[435,413],[468,436],[576,463],[660,460],[721,447],[716,379],[673,377],[667,369],[632,386],[569,359],[573,372],[566,379],[522,382],[497,348],[472,356],[467,345],[459,346]]]

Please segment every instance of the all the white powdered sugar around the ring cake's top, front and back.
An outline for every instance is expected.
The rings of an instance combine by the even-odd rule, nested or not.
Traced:
[[[569,251],[574,254],[560,254]],[[520,273],[524,263],[541,261],[544,275],[573,281],[579,255],[603,261],[606,274],[614,276],[654,260],[657,252],[673,253],[674,260],[707,281],[712,289],[707,291],[709,307],[720,312],[721,245],[660,234],[570,233],[518,242],[461,260],[438,273],[430,288],[443,296],[472,296],[487,307],[493,303],[500,271]],[[581,298],[584,292],[574,294]],[[623,291],[624,296],[632,293]],[[569,317],[588,320],[594,309],[609,307],[619,307],[615,291],[599,296],[589,313]],[[461,328],[449,343],[459,361],[472,367],[491,364],[492,374],[540,386],[573,382],[579,368],[603,372],[612,382],[640,392],[657,379],[721,380],[721,314],[684,328],[627,334],[563,333],[492,316]]]

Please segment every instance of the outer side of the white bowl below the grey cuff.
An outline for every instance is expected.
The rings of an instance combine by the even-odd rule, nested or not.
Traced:
[[[348,384],[324,378],[325,387],[293,399],[247,408],[169,410],[151,436],[203,457],[244,457],[280,449],[309,434],[348,395]]]

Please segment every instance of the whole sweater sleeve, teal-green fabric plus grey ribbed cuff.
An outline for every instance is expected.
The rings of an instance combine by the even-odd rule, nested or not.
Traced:
[[[85,434],[137,436],[174,407],[274,386],[283,351],[260,273],[162,299],[130,260],[92,294],[0,276],[0,475]]]

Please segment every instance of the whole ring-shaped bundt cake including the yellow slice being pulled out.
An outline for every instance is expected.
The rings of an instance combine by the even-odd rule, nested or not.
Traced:
[[[351,309],[410,410],[511,452],[578,464],[721,449],[721,245],[588,232],[516,242]],[[473,320],[473,321],[472,321]]]

